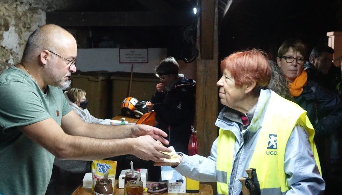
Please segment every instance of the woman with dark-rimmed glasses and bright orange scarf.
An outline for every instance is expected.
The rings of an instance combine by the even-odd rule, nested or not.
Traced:
[[[288,88],[294,102],[307,111],[315,129],[315,141],[320,155],[323,177],[327,165],[324,162],[325,137],[330,138],[330,163],[332,171],[340,167],[338,130],[342,123],[340,99],[336,94],[308,78],[303,68],[306,46],[299,40],[287,40],[278,49],[277,63],[289,82]]]

